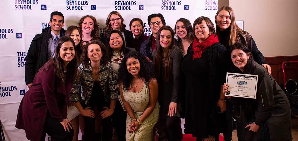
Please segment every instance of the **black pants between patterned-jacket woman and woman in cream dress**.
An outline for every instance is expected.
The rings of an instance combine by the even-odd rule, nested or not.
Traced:
[[[126,111],[123,110],[119,100],[116,101],[114,113],[112,115],[113,127],[117,131],[118,140],[125,140],[126,131]]]

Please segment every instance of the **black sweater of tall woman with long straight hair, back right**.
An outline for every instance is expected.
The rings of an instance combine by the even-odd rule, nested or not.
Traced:
[[[231,28],[227,28],[224,31],[219,31],[218,33],[219,33],[219,35],[218,35],[219,42],[221,44],[223,44],[227,50],[229,50],[230,49],[229,40],[230,40]],[[241,43],[243,45],[246,45],[244,37],[242,37],[240,35],[240,39],[241,39]],[[267,64],[263,54],[260,52],[260,50],[258,50],[257,45],[254,42],[254,39],[252,37],[251,37],[251,39],[248,39],[246,37],[246,40],[247,40],[247,44],[248,44],[247,47],[249,48],[250,52],[252,53],[252,55],[254,57],[254,61],[256,61],[260,65]]]

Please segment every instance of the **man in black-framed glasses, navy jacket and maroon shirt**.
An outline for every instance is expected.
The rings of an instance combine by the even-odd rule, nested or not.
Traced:
[[[152,52],[156,48],[156,34],[160,27],[166,25],[166,21],[164,20],[164,16],[160,13],[158,14],[151,14],[148,16],[148,23],[150,23],[150,28],[152,31],[152,34],[150,37],[145,40],[141,44],[140,53],[144,54],[146,56],[146,59],[149,62],[153,61]],[[175,45],[180,48],[180,44],[175,39]]]

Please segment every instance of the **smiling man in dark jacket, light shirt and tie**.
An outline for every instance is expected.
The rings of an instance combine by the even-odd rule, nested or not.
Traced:
[[[64,16],[61,12],[52,12],[49,24],[50,27],[44,28],[41,34],[36,34],[32,39],[26,56],[25,81],[28,88],[32,85],[35,73],[53,58],[57,41],[65,34],[62,28]]]

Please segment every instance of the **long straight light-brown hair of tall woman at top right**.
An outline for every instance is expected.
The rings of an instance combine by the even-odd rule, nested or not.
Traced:
[[[241,39],[240,39],[240,36],[242,36],[244,39],[245,39],[245,43],[246,43],[246,47],[248,47],[248,43],[247,43],[247,40],[250,40],[251,39],[251,35],[247,32],[247,31],[244,31],[242,30],[239,26],[237,26],[236,24],[236,20],[235,20],[235,14],[234,14],[234,11],[231,7],[229,6],[223,6],[221,7],[220,9],[218,9],[216,15],[215,15],[215,25],[216,25],[216,35],[218,36],[218,39],[219,40],[222,40],[222,37],[220,36],[219,31],[220,31],[220,28],[219,26],[217,25],[217,21],[216,21],[216,18],[218,16],[218,13],[221,11],[221,10],[226,10],[229,12],[230,14],[230,19],[231,19],[231,23],[230,23],[230,28],[231,28],[231,33],[230,33],[230,39],[229,39],[229,46],[231,45],[235,45],[235,44],[241,44]],[[249,47],[248,47],[249,48]],[[249,48],[250,49],[250,48]],[[251,49],[250,49],[251,50]]]

